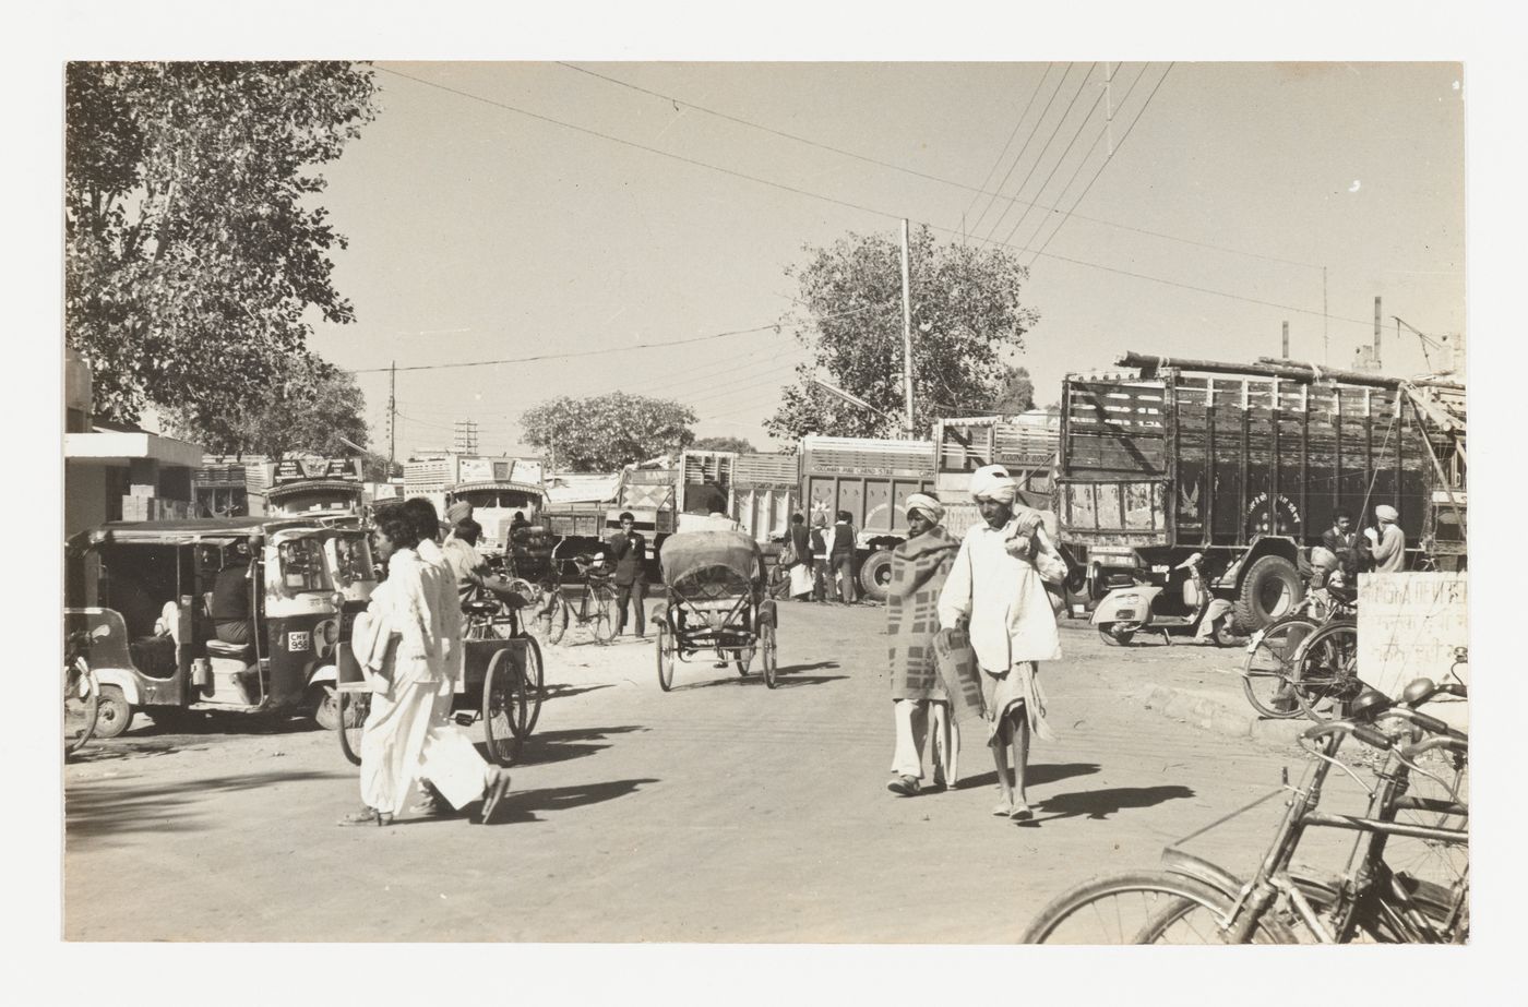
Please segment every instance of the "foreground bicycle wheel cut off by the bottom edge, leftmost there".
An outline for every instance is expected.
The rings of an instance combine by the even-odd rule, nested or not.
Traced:
[[[1204,882],[1167,871],[1099,877],[1050,902],[1019,938],[1025,944],[1221,944],[1218,921],[1232,900]],[[1276,920],[1259,920],[1256,944],[1288,944]]]

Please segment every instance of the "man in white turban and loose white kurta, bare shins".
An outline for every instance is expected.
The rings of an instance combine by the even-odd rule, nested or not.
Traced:
[[[993,814],[1033,818],[1024,773],[1028,738],[1051,738],[1036,663],[1060,659],[1056,614],[1031,553],[1042,541],[1041,512],[1015,509],[1018,487],[1001,466],[972,474],[970,494],[984,523],[972,526],[940,593],[940,628],[967,622],[970,646],[981,666],[989,718],[989,744],[998,767],[999,804]],[[1013,750],[1013,781],[1007,750]]]

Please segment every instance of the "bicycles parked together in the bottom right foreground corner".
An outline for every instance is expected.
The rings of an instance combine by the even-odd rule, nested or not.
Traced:
[[[1293,790],[1273,845],[1250,882],[1242,883],[1230,873],[1174,843],[1163,853],[1161,871],[1132,871],[1094,879],[1062,892],[1041,911],[1021,940],[1089,944],[1180,941],[1282,944],[1296,943],[1303,935],[1308,941],[1323,944],[1355,940],[1465,941],[1468,869],[1461,871],[1453,883],[1445,886],[1406,871],[1394,871],[1384,860],[1386,842],[1392,837],[1413,837],[1464,848],[1468,845],[1465,828],[1445,825],[1449,819],[1468,818],[1468,805],[1459,798],[1468,738],[1444,721],[1415,709],[1439,692],[1465,694],[1461,686],[1439,688],[1427,678],[1418,678],[1407,686],[1403,703],[1392,706],[1378,692],[1366,689],[1354,701],[1354,720],[1322,723],[1306,729],[1302,747],[1306,747],[1317,763],[1305,781]],[[1409,721],[1412,741],[1401,744],[1366,723],[1380,715]],[[1337,747],[1349,733],[1386,753],[1384,766],[1378,772],[1380,785],[1375,788],[1365,785],[1371,795],[1366,814],[1328,814],[1316,810],[1316,805],[1331,767],[1337,766],[1358,779],[1335,758]],[[1319,749],[1314,747],[1317,744]],[[1424,756],[1439,750],[1453,755],[1458,772],[1452,785],[1420,766]],[[1441,799],[1407,796],[1412,773],[1421,773],[1442,784],[1445,796]],[[1439,814],[1442,819],[1436,824],[1410,824],[1398,821],[1403,811]],[[1309,827],[1360,833],[1348,868],[1335,879],[1290,866],[1300,837]],[[1199,830],[1195,836],[1203,831],[1206,830]]]

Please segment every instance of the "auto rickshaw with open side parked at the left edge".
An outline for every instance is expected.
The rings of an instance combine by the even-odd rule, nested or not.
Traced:
[[[304,518],[113,521],[69,542],[66,631],[89,639],[96,737],[139,711],[170,723],[193,704],[281,711],[338,726],[335,683],[354,663],[350,625],[376,585],[365,532]],[[219,639],[220,571],[243,568],[248,643]]]

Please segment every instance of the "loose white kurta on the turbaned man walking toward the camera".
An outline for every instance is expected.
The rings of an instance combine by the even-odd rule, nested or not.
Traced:
[[[972,526],[940,591],[940,627],[953,630],[969,616],[976,663],[993,672],[1016,662],[1060,660],[1045,582],[1033,564],[1008,555],[1007,538],[1008,529]]]

